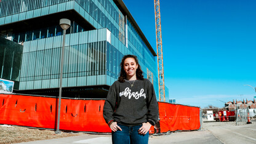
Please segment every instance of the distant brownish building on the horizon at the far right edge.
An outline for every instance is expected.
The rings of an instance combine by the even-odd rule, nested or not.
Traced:
[[[225,107],[228,108],[228,110],[234,110],[236,109],[236,106],[238,106],[238,109],[245,109],[245,108],[249,108],[249,109],[256,109],[256,102],[255,102],[255,98],[254,101],[252,100],[243,100],[243,101],[238,101],[236,100],[236,102],[233,100],[233,102],[227,102],[225,104]]]

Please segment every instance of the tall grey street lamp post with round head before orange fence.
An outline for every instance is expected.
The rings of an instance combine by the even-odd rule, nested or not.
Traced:
[[[60,19],[60,27],[63,29],[63,43],[62,43],[62,61],[60,63],[60,90],[58,93],[58,120],[57,120],[57,131],[55,134],[60,134],[60,105],[62,102],[62,75],[63,75],[63,64],[64,64],[64,54],[65,54],[65,36],[66,30],[70,28],[70,20],[66,18]]]

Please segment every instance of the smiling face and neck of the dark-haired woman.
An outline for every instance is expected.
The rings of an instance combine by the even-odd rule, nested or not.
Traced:
[[[134,58],[126,58],[124,60],[124,71],[126,71],[126,79],[135,80],[137,68],[138,65]]]

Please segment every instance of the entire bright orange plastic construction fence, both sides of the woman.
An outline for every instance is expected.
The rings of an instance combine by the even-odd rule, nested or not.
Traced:
[[[105,100],[62,99],[60,129],[111,132],[103,119]],[[161,132],[196,130],[199,108],[158,103]],[[57,129],[58,98],[0,94],[0,124]],[[150,133],[154,133],[151,127]]]

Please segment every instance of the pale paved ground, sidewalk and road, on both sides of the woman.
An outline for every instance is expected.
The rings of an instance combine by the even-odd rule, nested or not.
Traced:
[[[203,122],[202,130],[174,132],[169,135],[150,136],[150,144],[160,143],[256,143],[256,121],[236,126],[235,122]],[[111,135],[86,134],[76,137],[41,140],[28,143],[111,143]]]

